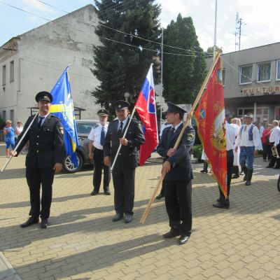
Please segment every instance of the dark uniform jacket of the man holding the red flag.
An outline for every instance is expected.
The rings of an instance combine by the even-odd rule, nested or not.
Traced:
[[[171,163],[172,169],[165,176],[166,180],[182,181],[193,179],[193,169],[191,162],[191,151],[195,143],[195,130],[193,127],[187,127],[183,137],[176,149],[174,155],[167,156],[169,148],[174,148],[176,140],[183,128],[181,124],[173,133],[172,127],[167,127],[162,132],[160,143],[158,144],[158,153]]]

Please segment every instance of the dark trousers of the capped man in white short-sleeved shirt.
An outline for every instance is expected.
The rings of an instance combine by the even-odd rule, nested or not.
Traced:
[[[111,181],[111,167],[104,165],[104,153],[103,150],[94,148],[93,151],[93,162],[94,162],[94,172],[93,172],[93,187],[94,191],[99,193],[99,188],[102,179],[102,169],[104,172],[103,178],[103,189],[104,192],[109,191],[109,183]]]

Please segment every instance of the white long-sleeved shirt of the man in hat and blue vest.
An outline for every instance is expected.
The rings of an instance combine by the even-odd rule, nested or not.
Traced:
[[[243,130],[241,127],[243,126]],[[262,150],[262,141],[260,140],[260,132],[258,131],[258,127],[254,125],[253,127],[253,140],[249,140],[249,130],[251,125],[242,125],[239,130],[239,134],[237,137],[237,141],[235,142],[236,146],[245,146],[252,147],[255,146],[255,150]]]

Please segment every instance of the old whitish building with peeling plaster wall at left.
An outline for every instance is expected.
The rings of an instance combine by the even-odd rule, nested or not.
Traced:
[[[92,45],[97,14],[92,5],[73,11],[0,47],[0,116],[25,122],[36,107],[35,94],[49,91],[69,66],[74,106],[85,109],[81,118],[97,118],[97,105],[90,92],[99,85],[92,75]]]

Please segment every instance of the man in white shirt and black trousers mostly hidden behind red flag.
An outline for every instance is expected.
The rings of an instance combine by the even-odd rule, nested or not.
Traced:
[[[227,149],[227,186],[228,186],[228,197],[230,196],[230,182],[232,181],[232,165],[233,165],[233,150],[235,149],[235,128],[232,127],[228,122],[225,123],[225,143]],[[221,189],[219,189],[220,197],[213,204],[217,208],[230,208],[230,200],[225,197]]]

